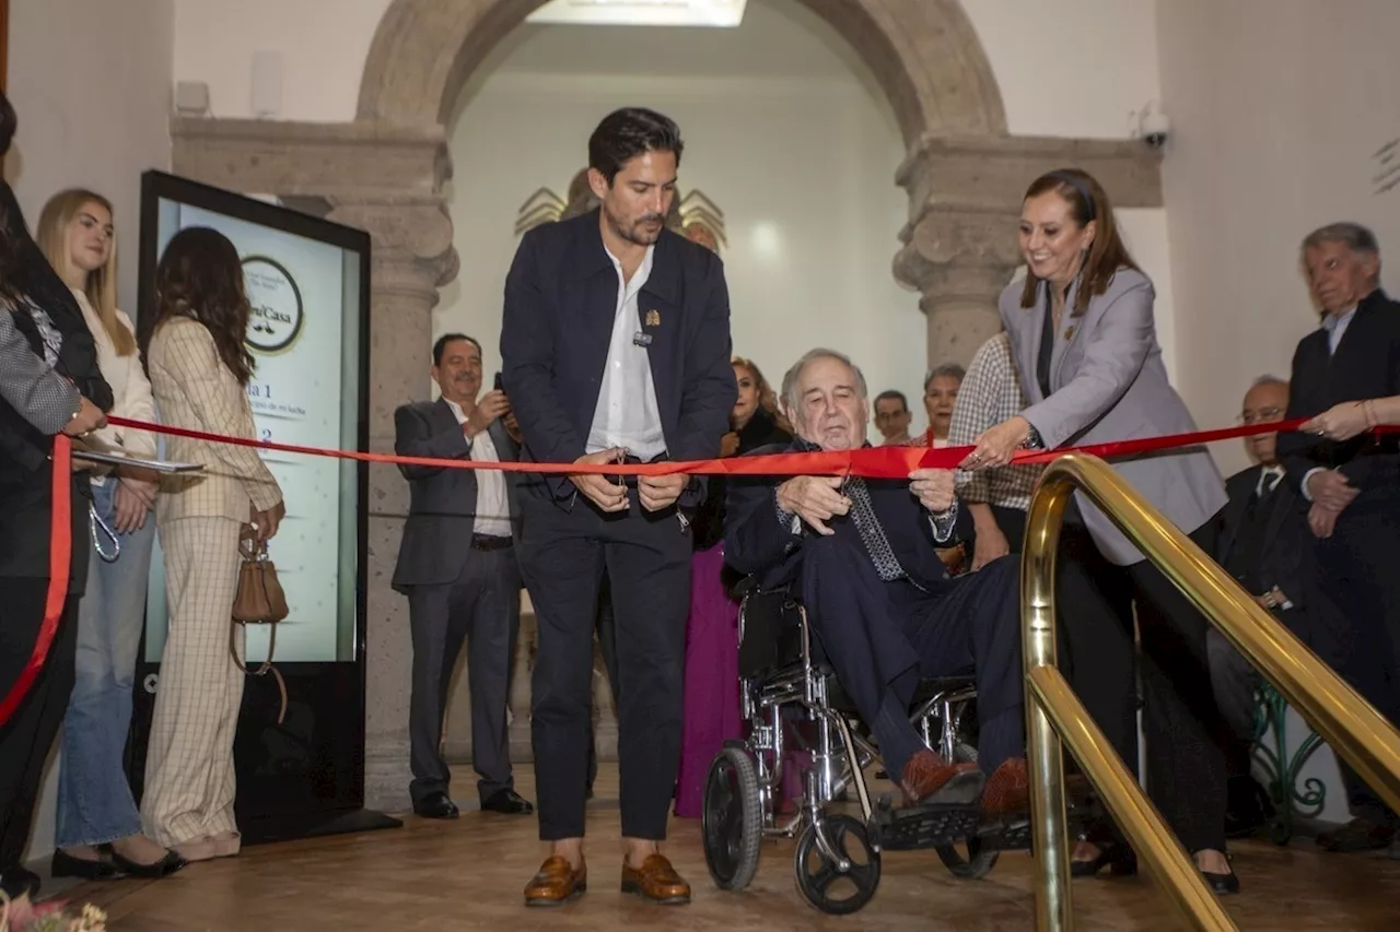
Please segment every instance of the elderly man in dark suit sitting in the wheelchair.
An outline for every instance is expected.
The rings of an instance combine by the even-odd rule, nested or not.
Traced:
[[[865,445],[865,376],[844,355],[812,350],[783,379],[781,397],[797,431],[790,449]],[[763,452],[777,451],[755,451]],[[841,687],[907,802],[949,798],[963,786],[972,802],[986,774],[983,809],[1023,810],[1018,564],[1002,557],[951,579],[937,549],[958,536],[953,470],[916,470],[910,480],[731,477],[725,561],[759,574],[766,586],[799,588]],[[921,677],[962,673],[976,675],[983,774],[938,757],[909,721]]]

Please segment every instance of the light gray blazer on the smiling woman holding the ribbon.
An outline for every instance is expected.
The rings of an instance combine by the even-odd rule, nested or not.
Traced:
[[[1078,284],[1065,298],[1074,306]],[[1120,269],[1105,294],[1089,299],[1084,316],[1068,313],[1056,333],[1050,358],[1050,396],[1040,390],[1036,361],[1049,312],[1046,284],[1036,304],[1021,306],[1022,283],[1001,292],[1001,322],[1011,337],[1021,385],[1030,402],[1022,416],[1039,431],[1046,448],[1180,434],[1196,430],[1186,404],[1166,379],[1162,348],[1152,322],[1152,283],[1140,271]],[[1204,446],[1170,453],[1120,458],[1114,469],[1190,533],[1225,507],[1225,481]],[[1113,522],[1078,495],[1085,525],[1113,563],[1142,560]]]

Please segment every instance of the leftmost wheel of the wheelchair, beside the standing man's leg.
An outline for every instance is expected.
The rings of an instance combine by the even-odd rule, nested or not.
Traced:
[[[763,809],[753,758],[725,747],[710,764],[704,785],[704,862],[721,890],[742,890],[759,868]]]

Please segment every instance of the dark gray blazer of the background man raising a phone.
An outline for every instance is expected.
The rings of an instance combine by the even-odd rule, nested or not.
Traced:
[[[393,449],[400,456],[434,459],[470,459],[468,442],[456,416],[447,402],[414,402],[393,413]],[[519,446],[505,432],[500,420],[487,428],[501,462],[519,459]],[[454,582],[472,553],[476,525],[476,470],[441,466],[399,466],[409,480],[409,516],[399,543],[399,563],[393,568],[393,588],[442,585]],[[515,473],[505,476],[505,501],[511,532],[519,537],[519,511],[515,504]]]

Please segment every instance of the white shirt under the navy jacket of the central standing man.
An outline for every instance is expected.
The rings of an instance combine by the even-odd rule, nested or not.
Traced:
[[[603,381],[598,386],[598,407],[594,409],[594,423],[588,431],[589,453],[620,446],[647,462],[666,452],[661,409],[657,406],[657,383],[651,378],[651,357],[647,347],[637,343],[637,337],[643,334],[637,295],[651,276],[654,253],[655,246],[650,246],[631,281],[623,277],[617,257],[608,253],[617,270],[617,309],[613,312],[613,334],[608,346]]]

